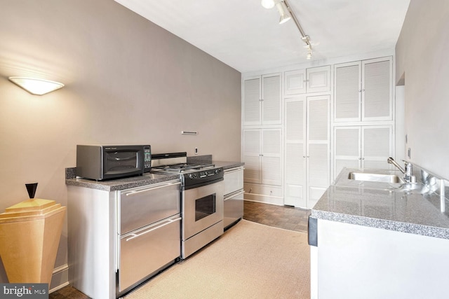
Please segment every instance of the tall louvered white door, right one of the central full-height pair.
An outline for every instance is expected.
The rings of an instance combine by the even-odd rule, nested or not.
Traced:
[[[307,97],[307,208],[330,184],[330,96]]]

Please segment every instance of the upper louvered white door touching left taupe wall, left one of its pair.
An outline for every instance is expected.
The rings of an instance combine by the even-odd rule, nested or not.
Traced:
[[[260,77],[243,81],[243,125],[260,125]]]

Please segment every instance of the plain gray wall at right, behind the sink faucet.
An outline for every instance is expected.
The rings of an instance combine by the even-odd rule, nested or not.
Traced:
[[[396,43],[410,160],[449,179],[449,1],[411,0]],[[405,155],[406,156],[406,155]]]

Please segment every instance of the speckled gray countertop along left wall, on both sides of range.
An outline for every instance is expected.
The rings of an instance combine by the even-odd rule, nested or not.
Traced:
[[[229,169],[244,165],[242,162],[213,161],[216,167]],[[93,188],[105,191],[124,190],[135,188],[163,181],[179,180],[179,174],[153,174],[148,173],[143,176],[132,176],[125,179],[113,179],[108,181],[93,181],[89,179],[76,178],[76,168],[67,168],[65,171],[65,184],[69,186],[79,186],[85,188]]]

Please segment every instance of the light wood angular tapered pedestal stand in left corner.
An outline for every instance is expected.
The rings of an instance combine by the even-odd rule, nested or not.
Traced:
[[[0,257],[10,283],[50,286],[66,209],[32,199],[0,214]]]

